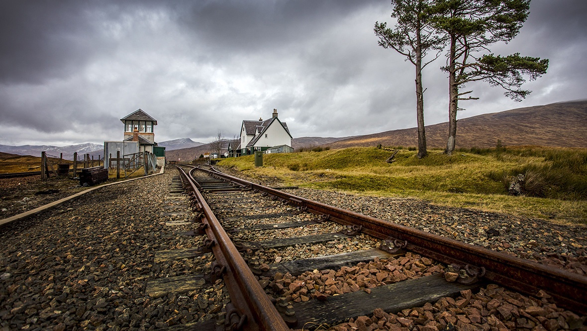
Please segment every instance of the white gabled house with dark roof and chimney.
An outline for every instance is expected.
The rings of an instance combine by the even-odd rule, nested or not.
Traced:
[[[266,151],[274,146],[285,145],[291,150],[292,136],[289,133],[288,124],[277,117],[277,110],[273,110],[273,116],[269,120],[258,121],[243,120],[241,126],[240,145],[231,147],[240,151],[240,154],[252,154],[254,151]],[[238,154],[235,153],[235,154]]]

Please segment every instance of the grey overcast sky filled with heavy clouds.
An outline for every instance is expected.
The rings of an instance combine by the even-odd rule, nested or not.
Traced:
[[[294,137],[416,126],[414,67],[377,45],[389,0],[0,2],[0,144],[122,140],[143,109],[156,141],[232,138],[276,108]],[[587,98],[587,1],[533,0],[496,54],[550,59],[513,102],[471,85],[459,118]],[[440,58],[424,70],[425,121],[447,120]]]

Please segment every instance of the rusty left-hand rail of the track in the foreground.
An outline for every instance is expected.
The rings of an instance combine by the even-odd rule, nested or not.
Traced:
[[[289,330],[269,296],[249,269],[247,262],[242,258],[204,200],[193,178],[190,178],[183,168],[177,168],[187,178],[198,201],[198,207],[204,214],[201,222],[205,225],[208,238],[214,241],[214,244],[211,245],[212,252],[214,252],[218,264],[221,265],[220,268],[222,266],[226,268],[223,276],[231,302],[241,314],[247,316],[243,328],[245,330]],[[229,319],[230,316],[226,316],[226,318]]]

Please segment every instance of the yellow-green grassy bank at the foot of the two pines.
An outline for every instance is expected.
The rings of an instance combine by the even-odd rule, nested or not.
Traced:
[[[321,152],[269,154],[264,167],[252,156],[227,158],[219,165],[254,180],[277,185],[416,197],[438,204],[474,207],[558,222],[587,221],[587,149],[474,148],[446,156],[431,151],[352,147]],[[508,185],[525,174],[524,197],[508,195]]]

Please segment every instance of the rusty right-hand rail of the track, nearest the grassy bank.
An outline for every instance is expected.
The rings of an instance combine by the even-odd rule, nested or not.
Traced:
[[[558,305],[585,314],[587,313],[587,277],[552,268],[537,262],[491,251],[481,246],[465,244],[454,239],[430,234],[418,229],[404,227],[389,221],[359,214],[321,202],[298,197],[263,185],[251,183],[211,168],[205,170],[216,177],[247,185],[253,190],[266,192],[318,215],[329,215],[329,219],[345,225],[362,226],[362,232],[379,239],[400,239],[407,242],[407,249],[436,259],[444,264],[470,264],[486,270],[485,279],[515,289],[528,295],[537,295],[542,290],[552,296]]]

